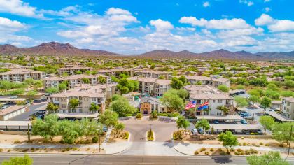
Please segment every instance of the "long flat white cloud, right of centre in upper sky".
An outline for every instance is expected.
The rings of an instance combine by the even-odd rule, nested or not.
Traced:
[[[246,29],[250,27],[245,20],[240,18],[233,18],[232,20],[205,20],[201,18],[198,20],[196,17],[181,17],[179,22],[192,24],[193,26],[206,27],[207,29]]]

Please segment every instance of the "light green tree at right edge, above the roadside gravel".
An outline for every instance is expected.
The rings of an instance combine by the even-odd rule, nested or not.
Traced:
[[[291,126],[293,126],[293,122],[282,122],[282,123],[274,123],[272,125],[272,136],[276,141],[279,141],[282,145],[286,143],[289,145],[290,143],[290,131]],[[294,140],[294,133],[292,134],[292,141]]]

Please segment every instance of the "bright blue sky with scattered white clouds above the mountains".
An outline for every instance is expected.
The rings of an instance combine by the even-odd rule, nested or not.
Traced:
[[[0,44],[136,54],[293,51],[292,0],[0,0]]]

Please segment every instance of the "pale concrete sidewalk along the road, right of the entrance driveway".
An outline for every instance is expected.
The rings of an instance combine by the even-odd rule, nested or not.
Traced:
[[[193,144],[193,143],[175,143],[174,149],[177,152],[180,152],[185,155],[194,155],[195,150],[200,148],[224,148],[223,145],[209,145],[209,144]],[[287,148],[272,148],[272,147],[254,147],[254,146],[234,146],[232,148],[242,150],[248,150],[253,148],[258,151],[279,151],[279,152],[288,152]],[[290,152],[294,152],[294,149],[291,149]]]

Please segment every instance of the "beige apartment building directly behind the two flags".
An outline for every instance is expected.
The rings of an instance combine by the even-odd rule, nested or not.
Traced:
[[[209,102],[209,111],[197,111],[196,115],[224,115],[221,110],[216,109],[218,106],[225,106],[230,110],[227,115],[233,115],[234,99],[218,89],[208,85],[187,85],[184,89],[189,92],[190,101],[196,101],[197,106]]]

